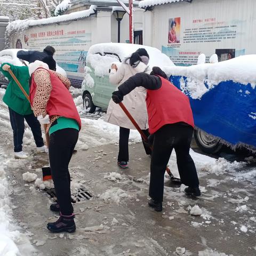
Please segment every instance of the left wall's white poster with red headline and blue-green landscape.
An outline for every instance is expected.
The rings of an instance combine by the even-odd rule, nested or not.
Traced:
[[[67,71],[69,78],[83,80],[86,55],[92,44],[91,21],[71,21],[48,26],[35,26],[15,38],[12,47],[43,51],[51,45],[55,48],[54,59]],[[81,77],[81,79],[79,79]],[[73,81],[74,83],[75,81]],[[79,85],[79,84],[78,84]]]

